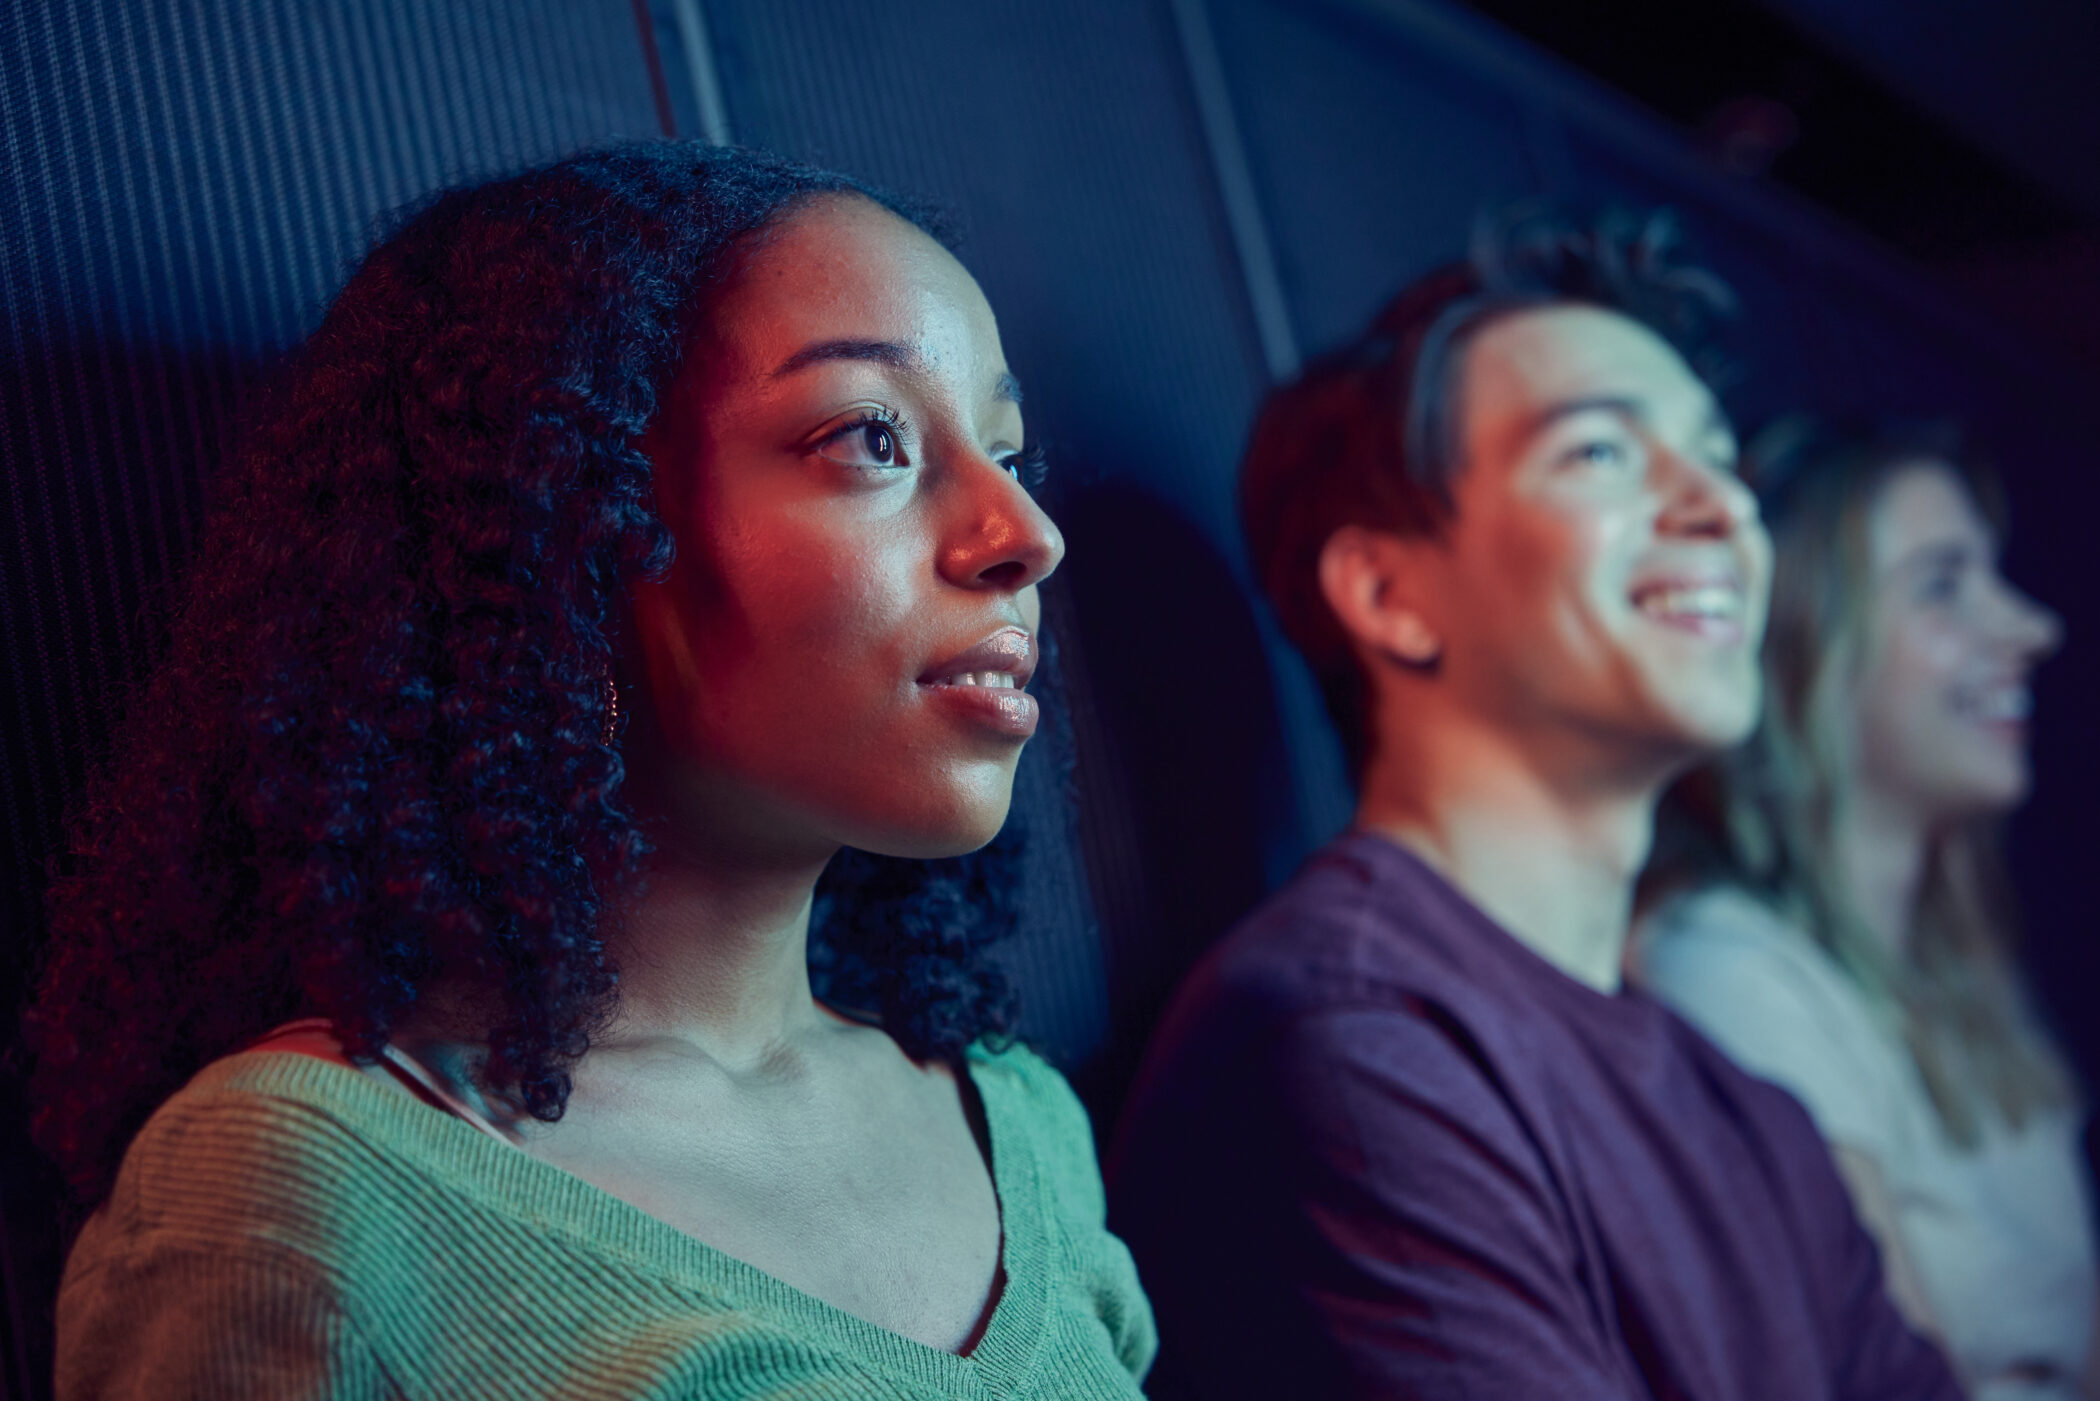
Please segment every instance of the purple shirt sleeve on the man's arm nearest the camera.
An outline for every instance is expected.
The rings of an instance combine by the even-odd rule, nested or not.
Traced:
[[[1275,1046],[1285,1241],[1354,1397],[1636,1401],[1539,1153],[1457,1027],[1304,1017]],[[1262,1130],[1256,1130],[1262,1132]]]

